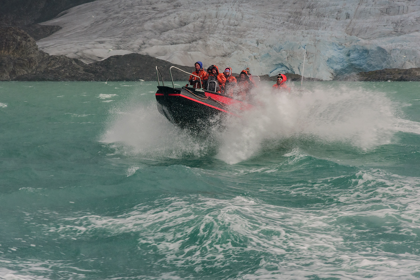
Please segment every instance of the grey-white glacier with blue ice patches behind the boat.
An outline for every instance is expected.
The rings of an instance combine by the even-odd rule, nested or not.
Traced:
[[[49,54],[90,63],[148,54],[239,73],[337,75],[420,66],[420,0],[96,0],[41,23]]]

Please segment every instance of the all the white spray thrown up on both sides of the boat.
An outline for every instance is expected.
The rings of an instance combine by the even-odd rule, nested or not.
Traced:
[[[168,122],[155,101],[121,106],[111,112],[114,119],[102,141],[120,143],[123,153],[149,158],[215,156],[232,164],[256,156],[270,141],[308,139],[368,150],[389,143],[396,123],[394,104],[385,94],[362,88],[317,84],[312,91],[273,93],[261,87],[256,103],[206,138]]]

